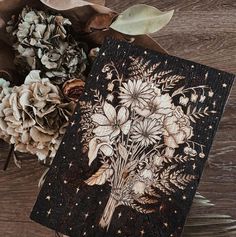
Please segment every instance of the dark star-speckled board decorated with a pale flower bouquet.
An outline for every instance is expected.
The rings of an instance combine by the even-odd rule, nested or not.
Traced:
[[[31,218],[69,236],[181,236],[234,76],[108,40]]]

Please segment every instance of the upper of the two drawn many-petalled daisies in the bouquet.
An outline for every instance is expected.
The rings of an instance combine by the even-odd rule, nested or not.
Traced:
[[[128,80],[120,87],[120,103],[126,107],[147,106],[154,92],[149,83],[142,80]]]

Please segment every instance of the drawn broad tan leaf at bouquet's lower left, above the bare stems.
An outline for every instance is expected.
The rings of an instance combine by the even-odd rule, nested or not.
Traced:
[[[99,168],[99,170],[94,175],[92,175],[89,179],[87,179],[85,183],[90,186],[102,185],[112,175],[113,175],[113,169],[110,168],[109,164],[105,163]]]

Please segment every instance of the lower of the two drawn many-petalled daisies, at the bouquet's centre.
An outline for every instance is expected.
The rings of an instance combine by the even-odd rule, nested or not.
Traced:
[[[132,139],[140,142],[142,146],[148,146],[161,140],[162,125],[157,119],[144,119],[134,124]]]

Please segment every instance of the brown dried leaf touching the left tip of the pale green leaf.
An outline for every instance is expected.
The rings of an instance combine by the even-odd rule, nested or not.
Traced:
[[[85,32],[92,32],[94,30],[108,29],[113,19],[117,16],[116,13],[102,14],[98,13],[92,16],[85,26]]]

